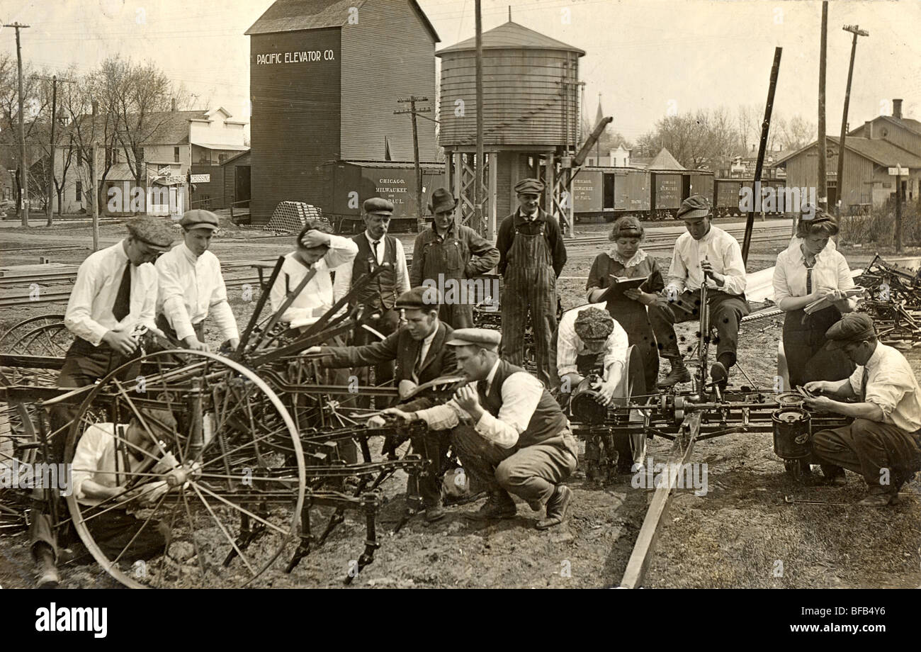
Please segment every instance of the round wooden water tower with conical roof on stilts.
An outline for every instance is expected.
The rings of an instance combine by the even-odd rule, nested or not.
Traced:
[[[484,165],[475,165],[476,41],[436,52],[441,57],[438,145],[445,148],[449,184],[461,223],[474,215],[475,169],[486,188],[484,235],[517,207],[515,184],[546,183],[544,209],[567,215],[567,184],[557,182],[579,142],[578,58],[585,52],[509,20],[483,33]]]

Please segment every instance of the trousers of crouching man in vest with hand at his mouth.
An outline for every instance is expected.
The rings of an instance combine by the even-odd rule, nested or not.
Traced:
[[[451,445],[464,472],[489,492],[504,489],[540,509],[558,483],[576,471],[576,443],[568,430],[541,444],[499,448],[472,426],[451,430]]]

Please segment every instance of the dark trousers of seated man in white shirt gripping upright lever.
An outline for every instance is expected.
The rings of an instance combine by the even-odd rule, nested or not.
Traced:
[[[710,307],[710,324],[717,328],[717,359],[728,354],[729,365],[734,365],[739,343],[739,322],[752,309],[744,295],[739,297],[711,289],[706,291],[706,302]],[[656,333],[659,355],[662,357],[675,358],[682,355],[674,324],[700,320],[700,290],[685,290],[676,303],[680,306],[674,306],[668,299],[659,297],[656,303],[649,306],[649,323]],[[706,336],[708,333],[703,334]]]

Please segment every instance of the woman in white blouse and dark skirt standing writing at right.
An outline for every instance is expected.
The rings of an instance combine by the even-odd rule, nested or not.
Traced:
[[[787,312],[784,318],[784,355],[787,358],[790,388],[810,380],[840,380],[854,371],[852,363],[840,350],[824,348],[825,332],[844,312],[855,307],[855,299],[845,297],[854,287],[845,257],[829,238],[837,235],[838,225],[832,215],[817,213],[813,219],[801,219],[797,238],[780,252],[774,268],[774,300]],[[825,298],[826,308],[806,314],[813,301]]]

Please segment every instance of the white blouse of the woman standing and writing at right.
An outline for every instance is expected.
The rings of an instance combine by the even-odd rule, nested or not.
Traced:
[[[802,239],[794,239],[787,249],[777,255],[774,267],[774,302],[780,304],[787,297],[805,297],[806,257],[802,252]],[[832,241],[829,240],[829,245]],[[815,257],[812,267],[812,290],[817,287],[831,287],[835,290],[849,290],[854,287],[854,278],[840,251],[826,246]]]

